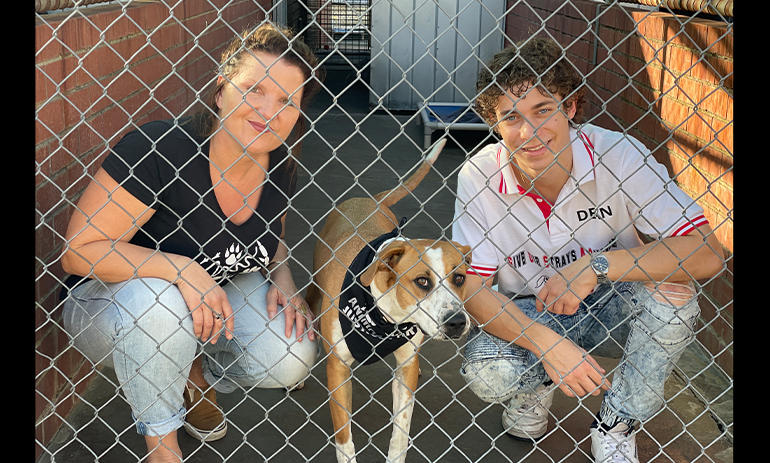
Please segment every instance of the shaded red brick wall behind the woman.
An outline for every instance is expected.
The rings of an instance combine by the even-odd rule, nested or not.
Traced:
[[[174,4],[173,11],[133,2],[125,12],[106,5],[66,21],[70,13],[36,18],[36,458],[93,372],[60,328],[59,255],[73,204],[126,132],[194,109],[225,44],[262,21],[270,0],[260,0],[262,8],[252,0]]]

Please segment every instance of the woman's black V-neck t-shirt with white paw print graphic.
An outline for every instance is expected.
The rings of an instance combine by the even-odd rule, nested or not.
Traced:
[[[270,153],[270,167],[256,213],[235,225],[222,212],[209,171],[209,142],[190,118],[155,121],[126,134],[102,167],[134,197],[155,210],[130,243],[194,259],[217,281],[258,271],[275,256],[281,217],[294,194],[296,174],[287,151]],[[83,280],[70,277],[62,290]]]

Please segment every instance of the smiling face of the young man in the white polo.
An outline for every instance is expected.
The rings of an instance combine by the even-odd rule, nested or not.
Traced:
[[[562,108],[560,95],[552,96],[539,87],[524,85],[514,90],[518,96],[508,90],[498,99],[497,129],[519,167],[535,176],[548,169],[556,156],[571,155],[569,121],[575,115],[575,102]]]

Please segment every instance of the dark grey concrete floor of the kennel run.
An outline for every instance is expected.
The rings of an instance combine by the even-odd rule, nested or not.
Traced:
[[[314,231],[320,231],[333,205],[397,185],[399,176],[421,158],[422,130],[416,117],[383,112],[369,115],[366,87],[354,82],[355,74],[330,70],[326,79],[329,92],[319,95],[309,111],[316,133],[303,142],[299,193],[292,201],[286,236],[296,259],[291,264],[294,277],[301,288],[306,287],[312,268]],[[336,105],[332,95],[337,95]],[[478,132],[452,132],[452,136],[457,143],[447,144],[414,196],[393,207],[399,218],[410,220],[407,236],[450,234],[457,170],[466,152],[474,151],[485,138]],[[422,350],[408,462],[590,461],[588,426],[600,398],[577,400],[557,391],[549,434],[536,445],[512,439],[503,432],[501,406],[484,403],[465,389],[459,375],[463,341],[433,341]],[[617,363],[597,360],[608,371]],[[391,433],[393,363],[391,357],[355,372],[353,432],[360,463],[385,460]],[[724,378],[707,367],[707,358],[701,358],[696,349],[688,350],[667,385],[666,397],[671,402],[638,434],[642,461],[733,461],[732,445],[714,419],[718,416],[729,424],[731,440],[732,385],[724,393]],[[687,381],[682,378],[688,377],[694,378],[697,389],[684,387]],[[704,397],[713,400],[708,408],[703,405]],[[102,370],[83,399],[68,418],[71,428],[62,428],[41,461],[134,462],[144,455],[143,439],[134,430],[127,404],[117,394],[114,371]],[[180,430],[185,461],[335,461],[323,356],[302,390],[255,389],[220,394],[218,400],[230,422],[228,434],[203,445]]]

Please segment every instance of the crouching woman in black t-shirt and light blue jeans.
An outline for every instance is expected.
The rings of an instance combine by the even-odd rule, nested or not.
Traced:
[[[315,361],[283,236],[297,182],[289,138],[303,131],[316,66],[289,31],[237,37],[207,110],[128,133],[70,219],[65,329],[114,366],[146,461],[180,461],[182,426],[222,438],[216,392],[290,388]]]

